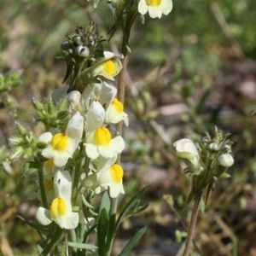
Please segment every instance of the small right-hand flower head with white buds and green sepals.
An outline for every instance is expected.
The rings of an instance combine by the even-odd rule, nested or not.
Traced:
[[[186,172],[192,176],[188,201],[201,196],[206,188],[208,196],[218,177],[227,176],[224,172],[234,164],[229,136],[216,128],[214,137],[207,134],[200,143],[194,143],[188,138],[173,143],[177,156],[188,164]]]

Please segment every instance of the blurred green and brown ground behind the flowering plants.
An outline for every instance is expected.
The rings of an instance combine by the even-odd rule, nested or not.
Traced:
[[[15,119],[40,134],[32,98],[43,102],[61,86],[58,60],[67,33],[89,20],[108,39],[112,11],[86,0],[0,0],[0,255],[37,255],[36,177],[23,161],[4,166]],[[154,182],[147,210],[123,224],[119,247],[140,227],[148,231],[134,255],[176,255],[191,208],[189,178],[172,143],[200,139],[214,125],[230,131],[236,165],[199,218],[195,255],[256,255],[256,1],[173,0],[160,20],[137,19],[131,33],[125,108],[130,126],[122,156],[127,198]],[[119,51],[117,32],[107,49]],[[9,84],[9,86],[6,86]],[[23,166],[23,167],[22,167]],[[125,201],[127,199],[123,199]],[[120,202],[122,204],[122,201]]]

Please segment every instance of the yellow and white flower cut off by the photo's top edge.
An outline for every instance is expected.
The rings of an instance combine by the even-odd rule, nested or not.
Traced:
[[[172,11],[172,0],[140,0],[138,12],[146,15],[148,12],[151,18],[159,18],[168,15]]]

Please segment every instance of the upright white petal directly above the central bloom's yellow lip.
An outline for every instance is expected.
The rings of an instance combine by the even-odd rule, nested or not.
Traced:
[[[86,131],[95,131],[102,126],[105,119],[105,109],[100,102],[92,102],[87,113]]]

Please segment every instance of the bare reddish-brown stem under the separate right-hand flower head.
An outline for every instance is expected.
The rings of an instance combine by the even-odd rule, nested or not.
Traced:
[[[198,196],[197,198],[195,198],[193,212],[190,218],[189,234],[186,239],[186,245],[185,245],[183,256],[189,256],[190,248],[191,248],[194,233],[195,233],[195,225],[196,225],[196,220],[199,212],[200,201],[201,201],[201,196]]]

